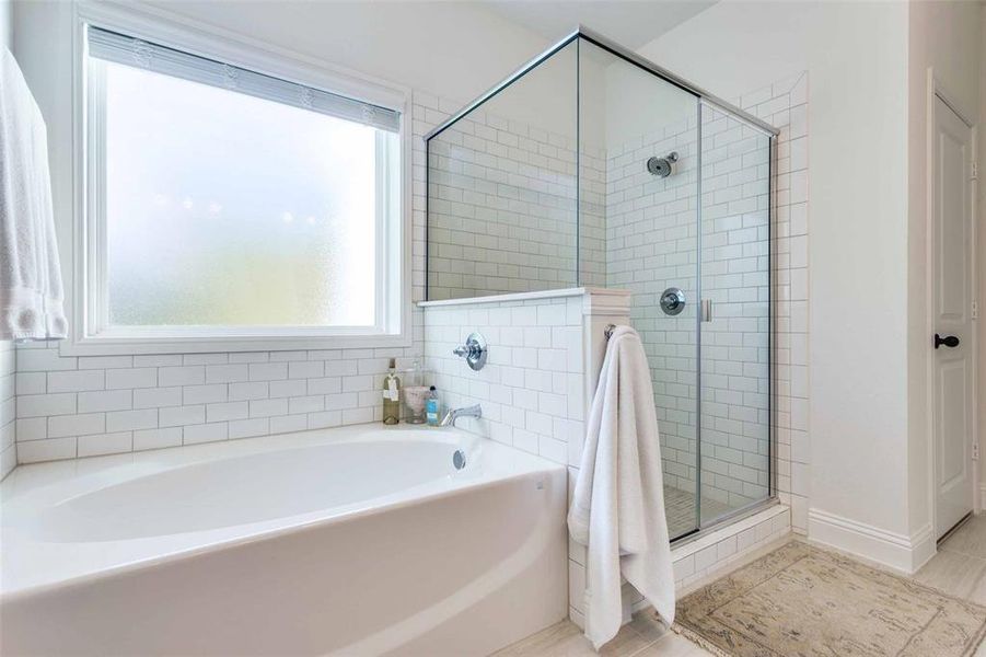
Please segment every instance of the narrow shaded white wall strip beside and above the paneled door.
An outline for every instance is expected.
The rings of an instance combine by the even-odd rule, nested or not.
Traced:
[[[979,103],[979,48],[982,5],[977,2],[909,3],[907,54],[907,223],[908,223],[908,507],[912,531],[931,527],[933,477],[929,425],[928,357],[931,354],[925,302],[928,246],[928,69],[959,110],[976,120]],[[981,347],[982,348],[982,347]],[[982,379],[981,379],[982,380]],[[981,418],[986,416],[981,414]]]

